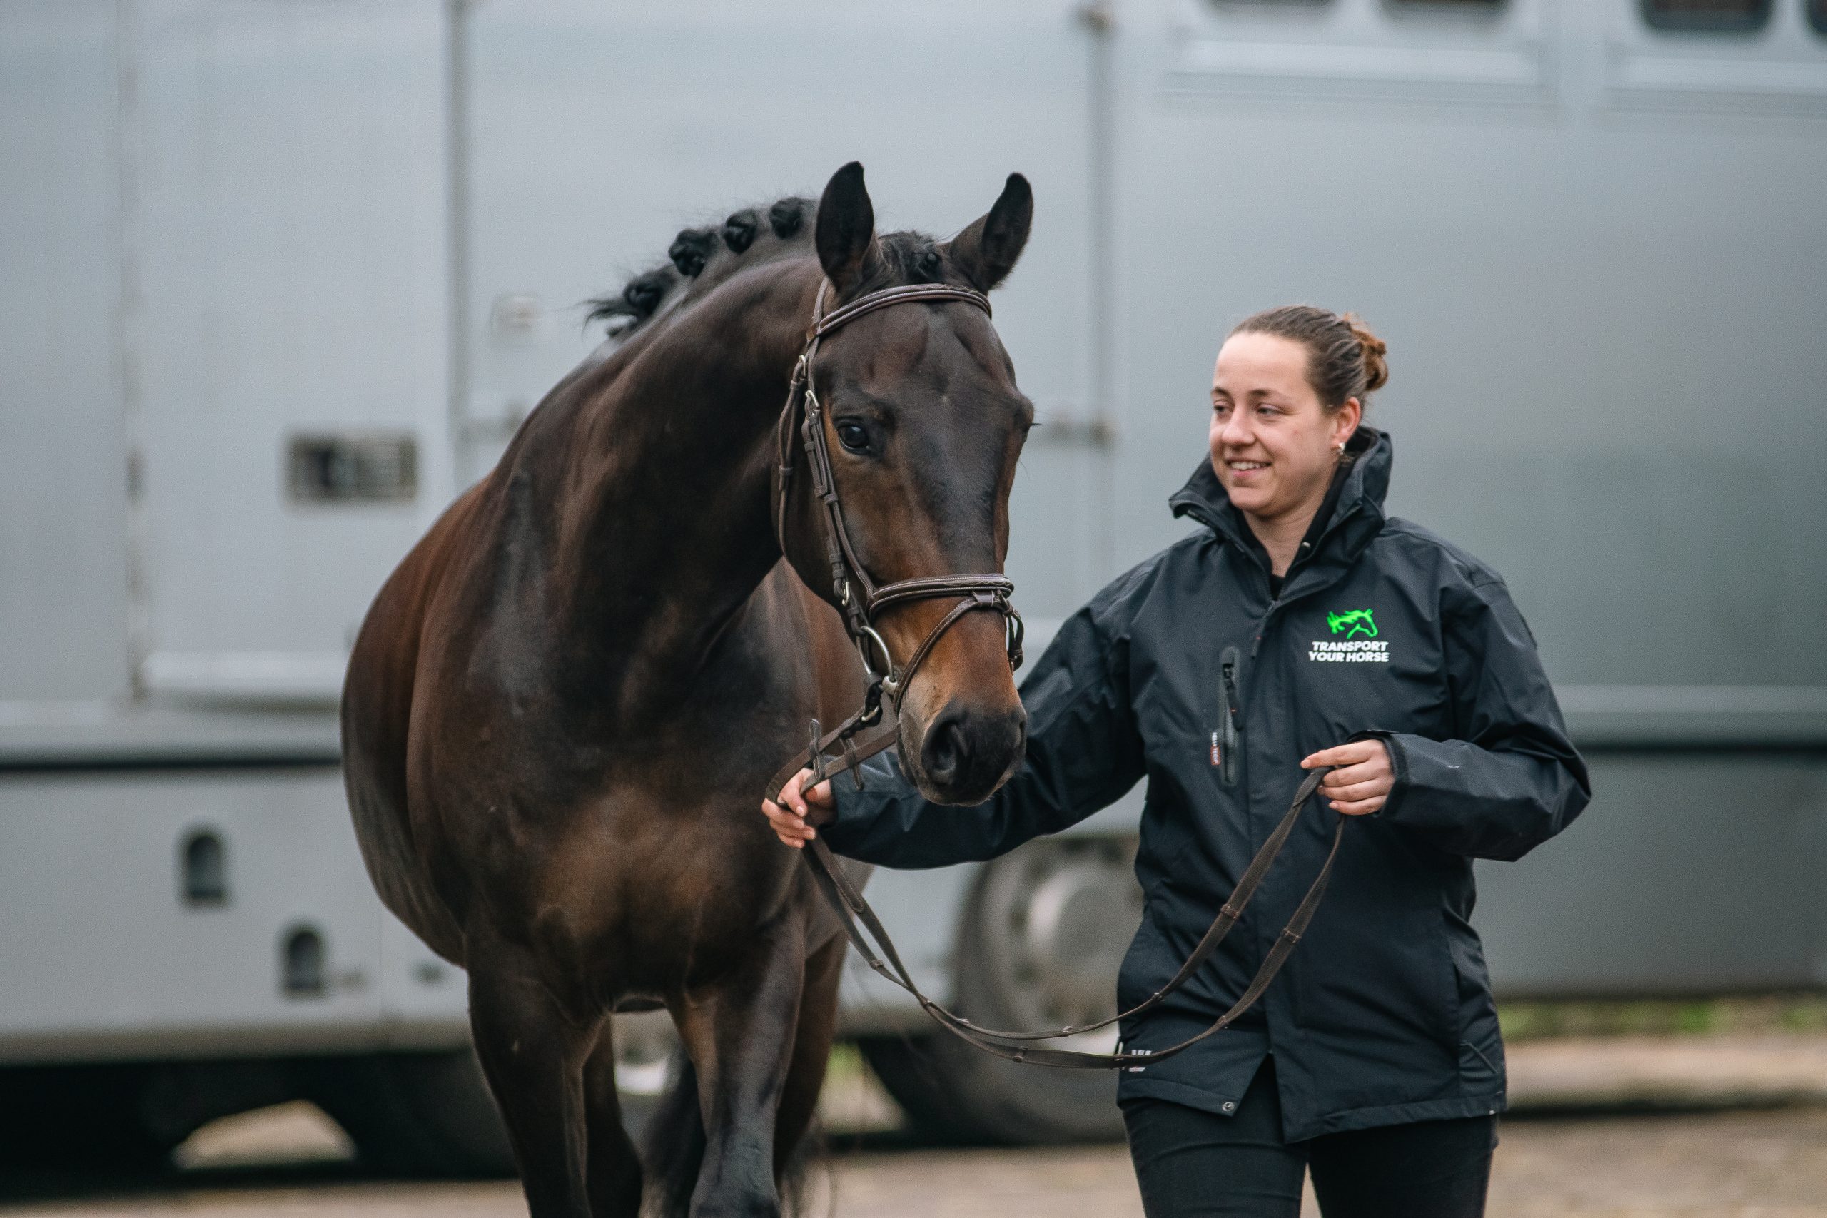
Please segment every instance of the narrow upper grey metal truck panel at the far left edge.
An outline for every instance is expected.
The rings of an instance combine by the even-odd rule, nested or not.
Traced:
[[[0,7],[0,699],[128,681],[115,5]]]

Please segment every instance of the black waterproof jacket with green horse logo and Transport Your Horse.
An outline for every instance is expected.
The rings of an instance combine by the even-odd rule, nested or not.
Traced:
[[[1496,572],[1383,515],[1390,444],[1359,429],[1281,595],[1209,464],[1173,497],[1206,528],[1147,559],[1061,626],[1021,687],[1027,760],[987,803],[924,802],[892,760],[868,789],[833,783],[831,849],[890,867],[992,858],[1147,780],[1142,928],[1118,979],[1162,986],[1286,811],[1301,758],[1354,736],[1389,743],[1396,787],[1345,825],[1306,937],[1233,1028],[1120,1096],[1235,1110],[1275,1054],[1290,1141],[1504,1108],[1504,1046],[1471,928],[1473,858],[1520,858],[1584,809],[1535,641]],[[1244,990],[1330,845],[1310,800],[1244,920],[1129,1050],[1209,1024]],[[1036,1066],[1040,1068],[1040,1066]]]

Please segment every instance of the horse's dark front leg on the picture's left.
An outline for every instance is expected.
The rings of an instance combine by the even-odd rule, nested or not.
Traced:
[[[597,1041],[541,982],[530,953],[470,937],[470,1028],[530,1218],[590,1218],[583,1066]]]

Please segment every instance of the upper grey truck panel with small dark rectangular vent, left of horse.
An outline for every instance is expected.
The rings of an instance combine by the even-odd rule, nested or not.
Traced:
[[[449,495],[444,5],[143,7],[146,685],[334,699]],[[292,435],[376,427],[417,502],[289,495]]]

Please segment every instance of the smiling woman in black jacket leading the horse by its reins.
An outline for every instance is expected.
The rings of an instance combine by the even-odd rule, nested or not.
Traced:
[[[1065,621],[1021,685],[1019,765],[987,802],[941,807],[884,754],[866,789],[808,791],[802,771],[762,805],[787,845],[824,835],[864,862],[941,867],[1146,778],[1142,929],[1116,982],[1133,1008],[1235,900],[1295,763],[1328,771],[1279,866],[1315,873],[1341,814],[1350,840],[1262,1001],[1180,1045],[1250,984],[1294,884],[1264,886],[1200,970],[1122,1021],[1116,1094],[1149,1218],[1294,1218],[1308,1169],[1328,1218],[1484,1209],[1504,1045],[1473,858],[1520,858],[1589,785],[1502,577],[1383,511],[1392,442],[1363,409],[1385,354],[1304,305],[1231,331],[1209,451],[1169,500],[1204,528]]]

